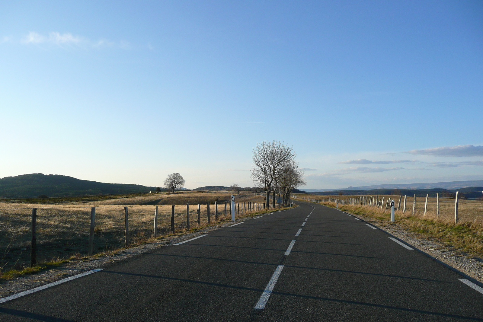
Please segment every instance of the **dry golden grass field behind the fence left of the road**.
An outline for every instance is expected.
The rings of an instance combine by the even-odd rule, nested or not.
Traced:
[[[21,269],[30,261],[30,226],[32,208],[37,208],[38,262],[82,257],[87,253],[91,207],[96,207],[95,252],[114,251],[124,244],[124,207],[128,206],[129,238],[132,245],[153,237],[154,213],[158,205],[158,236],[170,234],[171,205],[175,205],[175,231],[186,230],[186,204],[189,204],[190,228],[208,225],[207,204],[211,224],[215,223],[215,201],[218,202],[218,222],[224,217],[228,193],[149,194],[131,198],[115,198],[94,202],[62,202],[61,204],[26,204],[0,202],[0,271]],[[263,203],[263,196],[241,195],[236,202]],[[200,223],[198,224],[198,204]],[[247,205],[248,206],[248,205]],[[248,211],[247,211],[248,212]],[[243,214],[247,213],[243,211]],[[230,217],[229,203],[227,217]]]

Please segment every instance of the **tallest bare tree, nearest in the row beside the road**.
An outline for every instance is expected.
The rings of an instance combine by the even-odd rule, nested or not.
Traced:
[[[292,147],[280,141],[263,141],[256,144],[252,156],[253,166],[250,177],[257,188],[266,192],[267,205],[270,204],[270,192],[273,192],[272,207],[275,207],[275,190],[280,171],[294,161],[296,154]]]

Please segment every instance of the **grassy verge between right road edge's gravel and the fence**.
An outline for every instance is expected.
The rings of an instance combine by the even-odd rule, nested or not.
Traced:
[[[324,205],[335,208],[333,203]],[[379,226],[404,228],[418,238],[437,242],[453,252],[483,259],[483,226],[478,222],[452,224],[396,212],[396,222],[391,223],[390,213],[379,209],[351,205],[340,206],[339,209],[361,215]]]

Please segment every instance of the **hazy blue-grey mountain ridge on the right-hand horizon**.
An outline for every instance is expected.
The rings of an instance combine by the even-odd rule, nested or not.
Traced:
[[[396,184],[376,184],[361,187],[348,187],[346,189],[301,189],[308,192],[341,191],[341,190],[372,190],[372,189],[461,189],[469,187],[483,186],[483,180],[450,181],[435,183],[396,183]]]

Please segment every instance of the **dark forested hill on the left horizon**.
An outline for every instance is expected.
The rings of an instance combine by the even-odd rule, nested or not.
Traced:
[[[123,195],[148,193],[155,189],[156,187],[146,187],[141,184],[104,183],[43,173],[0,179],[0,197],[3,198],[34,198],[42,195],[49,197]]]

